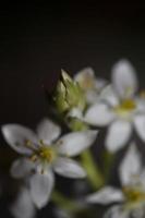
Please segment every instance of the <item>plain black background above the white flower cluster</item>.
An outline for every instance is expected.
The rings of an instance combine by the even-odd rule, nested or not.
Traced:
[[[72,2],[0,7],[0,124],[34,126],[47,114],[43,86],[50,90],[62,68],[93,66],[110,78],[112,64],[128,58],[144,86],[145,5]]]

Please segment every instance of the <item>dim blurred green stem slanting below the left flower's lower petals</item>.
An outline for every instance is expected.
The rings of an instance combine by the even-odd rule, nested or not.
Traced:
[[[75,213],[82,209],[82,207],[74,201],[63,196],[60,192],[53,191],[52,201],[62,209],[69,213]]]

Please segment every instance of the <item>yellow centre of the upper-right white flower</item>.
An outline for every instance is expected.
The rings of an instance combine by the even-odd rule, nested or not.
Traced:
[[[124,114],[132,112],[136,108],[136,104],[133,99],[125,99],[119,106],[114,107],[114,111],[118,114]]]

